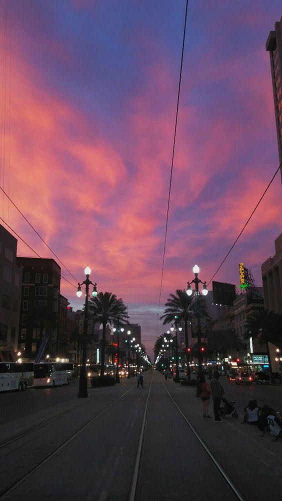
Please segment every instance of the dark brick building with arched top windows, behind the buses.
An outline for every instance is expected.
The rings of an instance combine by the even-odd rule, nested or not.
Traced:
[[[25,359],[34,360],[49,334],[45,354],[57,357],[61,268],[54,259],[18,257],[17,264],[23,267],[19,349]],[[61,305],[67,308],[67,300]]]

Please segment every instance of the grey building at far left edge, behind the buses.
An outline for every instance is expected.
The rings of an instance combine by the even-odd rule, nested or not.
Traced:
[[[22,268],[18,240],[0,224],[0,361],[17,360]]]

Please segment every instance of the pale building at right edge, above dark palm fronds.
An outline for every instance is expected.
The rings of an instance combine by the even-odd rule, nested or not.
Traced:
[[[261,265],[265,309],[282,315],[282,233],[275,240],[275,255]]]

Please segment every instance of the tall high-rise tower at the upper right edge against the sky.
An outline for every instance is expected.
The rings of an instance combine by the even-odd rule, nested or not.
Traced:
[[[274,98],[275,121],[278,141],[279,164],[282,163],[282,17],[275,23],[266,42],[266,51],[270,56],[272,89]],[[280,169],[282,180],[282,169]]]

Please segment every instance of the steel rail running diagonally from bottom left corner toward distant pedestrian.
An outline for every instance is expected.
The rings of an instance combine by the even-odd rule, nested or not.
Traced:
[[[27,471],[24,475],[22,475],[16,482],[13,482],[10,486],[6,487],[5,490],[0,492],[0,501],[5,499],[9,494],[11,494],[17,487],[19,487],[25,480],[27,480],[33,473],[35,473],[41,466],[43,466],[49,459],[51,459],[57,452],[63,449],[68,443],[70,443],[77,435],[79,435],[87,426],[89,426],[93,421],[95,421],[98,417],[100,417],[104,412],[110,409],[116,402],[118,402],[121,398],[123,398],[127,393],[129,393],[135,385],[129,388],[126,392],[120,395],[116,400],[114,400],[111,404],[105,407],[102,411],[100,411],[96,416],[91,418],[86,424],[84,424],[81,428],[79,428],[73,435],[67,438],[63,443],[61,443],[58,447],[53,449],[47,456],[38,461],[32,468]]]

